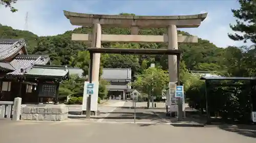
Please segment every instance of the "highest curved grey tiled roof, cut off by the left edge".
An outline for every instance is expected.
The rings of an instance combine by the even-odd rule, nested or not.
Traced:
[[[24,39],[0,39],[0,61],[17,53],[24,46]]]

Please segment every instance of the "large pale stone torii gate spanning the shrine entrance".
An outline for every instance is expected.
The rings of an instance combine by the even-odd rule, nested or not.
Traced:
[[[206,18],[207,13],[182,16],[124,16],[124,15],[98,15],[63,11],[72,25],[92,26],[92,34],[72,34],[74,41],[91,41],[91,47],[101,47],[101,42],[165,42],[168,49],[178,49],[178,43],[197,43],[197,36],[183,36],[177,34],[177,28],[198,27]],[[101,34],[103,27],[131,28],[132,35],[106,35]],[[138,35],[140,28],[167,28],[167,35]],[[94,54],[92,81],[99,79],[100,53]],[[177,82],[177,57],[168,55],[169,81]],[[90,98],[90,97],[89,97]],[[182,119],[182,101],[179,100],[179,115]]]

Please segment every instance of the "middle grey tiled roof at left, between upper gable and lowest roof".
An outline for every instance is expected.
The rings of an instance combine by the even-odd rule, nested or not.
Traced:
[[[29,70],[33,65],[46,65],[50,61],[48,55],[17,55],[10,64],[15,68],[15,71],[8,74],[11,75],[23,75],[22,70]]]

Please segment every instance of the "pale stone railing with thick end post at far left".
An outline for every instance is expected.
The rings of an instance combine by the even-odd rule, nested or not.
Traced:
[[[0,101],[0,119],[9,118],[14,121],[20,119],[22,98],[15,98],[14,101]]]

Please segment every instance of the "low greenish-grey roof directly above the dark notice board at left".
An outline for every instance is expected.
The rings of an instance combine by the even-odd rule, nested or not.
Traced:
[[[25,76],[36,77],[65,77],[69,74],[67,66],[34,65],[29,71],[25,71]]]

